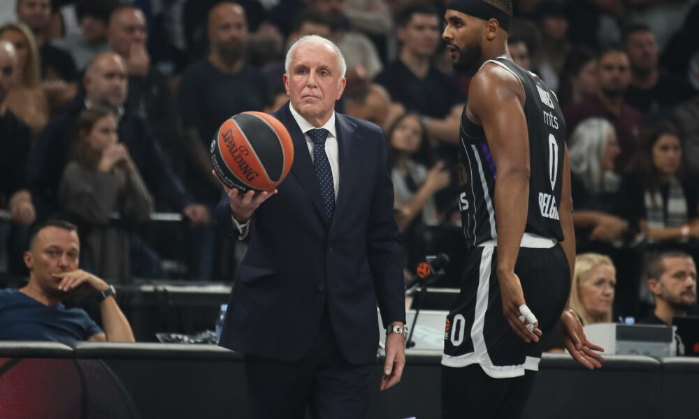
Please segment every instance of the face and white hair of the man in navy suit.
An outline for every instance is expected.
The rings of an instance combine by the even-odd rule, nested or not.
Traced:
[[[321,126],[335,110],[343,94],[336,52],[324,44],[306,42],[296,47],[284,74],[284,87],[291,105],[308,122]]]

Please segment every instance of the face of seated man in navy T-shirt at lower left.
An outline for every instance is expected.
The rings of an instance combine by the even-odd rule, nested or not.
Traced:
[[[36,281],[45,293],[63,295],[58,289],[61,278],[54,277],[54,274],[78,269],[79,255],[80,240],[75,231],[53,226],[42,228],[29,250],[24,252],[29,280]]]

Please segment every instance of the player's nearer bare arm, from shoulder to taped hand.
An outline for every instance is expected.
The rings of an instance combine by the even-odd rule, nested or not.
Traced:
[[[524,88],[504,68],[489,64],[471,80],[466,115],[480,122],[497,170],[495,218],[498,233],[497,274],[507,323],[525,341],[538,341],[541,330],[535,317],[527,317],[529,330],[520,316],[526,308],[514,264],[529,202],[529,138],[524,116]],[[531,311],[529,313],[531,315]]]

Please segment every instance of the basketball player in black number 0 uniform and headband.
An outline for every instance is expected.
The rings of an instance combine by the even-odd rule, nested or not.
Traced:
[[[556,96],[507,50],[510,0],[447,5],[454,68],[477,71],[461,114],[459,207],[466,272],[447,316],[444,418],[519,418],[558,323],[590,369],[602,348],[568,308],[575,263],[565,122]]]

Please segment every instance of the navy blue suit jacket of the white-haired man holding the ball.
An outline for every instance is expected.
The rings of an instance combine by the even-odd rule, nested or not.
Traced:
[[[291,134],[294,163],[279,193],[252,216],[250,247],[238,268],[219,344],[299,360],[317,335],[327,300],[345,358],[355,365],[375,362],[377,303],[384,325],[405,321],[402,249],[383,135],[374,124],[336,114],[340,186],[329,222],[289,103],[272,115]],[[216,215],[229,233],[238,234],[225,194]]]

